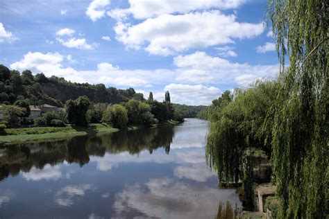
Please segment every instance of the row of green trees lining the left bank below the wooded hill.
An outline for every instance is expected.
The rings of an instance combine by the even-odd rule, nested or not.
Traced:
[[[65,111],[46,112],[35,119],[27,118],[30,114],[27,100],[17,100],[14,105],[1,105],[1,110],[6,114],[6,125],[12,128],[20,125],[87,126],[88,123],[109,123],[114,128],[126,128],[127,125],[151,127],[169,120],[183,121],[183,116],[170,103],[169,95],[167,91],[167,101],[163,102],[131,99],[126,103],[110,105],[103,110],[94,109],[87,96],[80,96],[75,100],[67,100]]]

